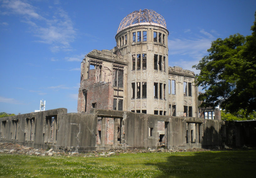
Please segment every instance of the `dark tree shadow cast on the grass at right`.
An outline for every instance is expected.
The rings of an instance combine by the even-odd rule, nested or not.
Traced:
[[[255,177],[256,151],[208,151],[172,153],[157,166],[156,177]]]

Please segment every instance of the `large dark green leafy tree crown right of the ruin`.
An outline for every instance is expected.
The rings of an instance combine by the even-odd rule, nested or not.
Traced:
[[[230,113],[256,109],[256,12],[251,30],[247,37],[237,33],[213,41],[209,55],[193,66],[201,70],[196,81],[205,89],[201,107],[221,104]]]

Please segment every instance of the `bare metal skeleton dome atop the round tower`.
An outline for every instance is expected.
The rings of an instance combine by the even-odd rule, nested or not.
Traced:
[[[153,10],[144,9],[143,11],[140,9],[139,11],[134,11],[128,14],[120,23],[117,33],[121,30],[131,27],[134,25],[140,24],[150,24],[157,25],[160,27],[166,28],[166,22],[160,14]]]

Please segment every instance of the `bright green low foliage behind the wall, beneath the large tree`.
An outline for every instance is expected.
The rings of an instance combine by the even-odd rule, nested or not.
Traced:
[[[247,114],[246,110],[239,110],[236,113],[229,113],[225,110],[221,111],[221,120],[224,121],[246,121],[246,120],[254,120],[256,118],[256,112],[253,111],[250,114]]]

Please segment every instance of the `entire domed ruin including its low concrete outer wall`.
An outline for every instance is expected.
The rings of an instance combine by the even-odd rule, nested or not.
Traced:
[[[201,111],[209,119],[199,117],[195,74],[168,67],[167,37],[160,14],[132,12],[120,23],[116,47],[83,59],[78,113],[0,118],[0,142],[72,151],[255,145],[255,122],[210,119],[212,110]]]

